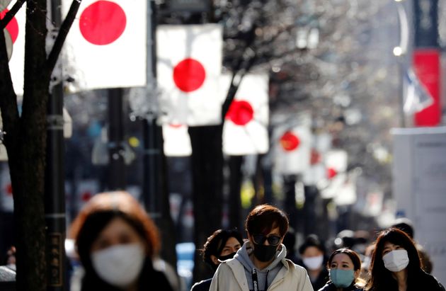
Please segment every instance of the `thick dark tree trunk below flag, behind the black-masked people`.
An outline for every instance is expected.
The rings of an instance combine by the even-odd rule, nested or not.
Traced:
[[[201,249],[207,237],[222,227],[222,131],[223,125],[189,127],[196,249]],[[194,261],[194,282],[212,276],[199,252],[195,252]]]

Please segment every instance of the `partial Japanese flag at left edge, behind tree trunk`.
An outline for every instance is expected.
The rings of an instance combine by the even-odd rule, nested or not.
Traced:
[[[12,8],[13,1],[0,13],[3,18],[9,9]],[[8,38],[13,43],[11,59],[9,59],[9,70],[13,81],[14,91],[17,95],[23,96],[23,72],[25,71],[25,21],[26,21],[26,4],[17,11],[16,15],[6,25]]]

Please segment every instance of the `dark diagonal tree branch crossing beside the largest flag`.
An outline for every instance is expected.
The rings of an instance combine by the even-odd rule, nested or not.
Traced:
[[[69,7],[67,17],[62,22],[62,25],[60,25],[60,30],[59,33],[57,34],[55,44],[53,45],[50,55],[48,55],[47,59],[46,68],[48,74],[51,74],[52,70],[55,68],[57,57],[59,57],[60,55],[64,42],[67,39],[69,29],[72,27],[74,18],[76,18],[77,11],[79,11],[80,5],[81,5],[81,0],[73,0],[72,6]]]

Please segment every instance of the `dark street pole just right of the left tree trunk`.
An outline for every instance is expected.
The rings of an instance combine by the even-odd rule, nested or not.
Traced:
[[[51,1],[53,40],[62,23],[61,0]],[[67,290],[65,256],[65,190],[64,190],[64,93],[62,70],[55,68],[55,85],[47,104],[47,157],[45,168],[45,224],[47,290]]]

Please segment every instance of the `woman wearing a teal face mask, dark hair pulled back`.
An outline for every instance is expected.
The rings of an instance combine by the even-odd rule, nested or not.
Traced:
[[[362,291],[365,280],[360,278],[361,258],[355,251],[337,249],[328,257],[328,283],[319,291]]]

